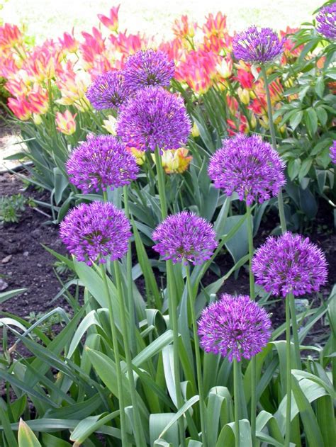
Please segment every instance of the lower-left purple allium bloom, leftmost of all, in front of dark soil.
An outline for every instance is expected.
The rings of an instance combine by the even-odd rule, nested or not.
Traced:
[[[128,250],[130,222],[109,202],[81,203],[60,224],[60,237],[78,261],[88,266],[115,261]]]

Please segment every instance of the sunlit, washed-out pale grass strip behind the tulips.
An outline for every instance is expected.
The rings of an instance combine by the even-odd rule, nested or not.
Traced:
[[[121,0],[119,0],[121,1]],[[209,12],[222,11],[228,16],[230,30],[241,30],[250,24],[284,29],[310,21],[322,4],[318,0],[123,0],[121,30],[140,31],[157,38],[169,38],[175,18],[188,14],[202,23]],[[78,33],[97,26],[97,13],[108,13],[118,0],[9,0],[0,11],[4,21],[25,24],[28,34],[37,41],[56,38],[74,26]]]

